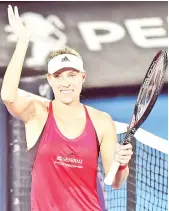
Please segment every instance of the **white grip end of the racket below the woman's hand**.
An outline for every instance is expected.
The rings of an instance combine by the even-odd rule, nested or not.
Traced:
[[[112,163],[110,170],[108,171],[108,173],[104,179],[104,183],[106,185],[112,185],[119,167],[120,167],[120,163],[118,163],[118,162]]]

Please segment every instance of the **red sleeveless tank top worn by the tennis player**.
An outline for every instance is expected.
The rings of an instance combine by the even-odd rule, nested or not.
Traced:
[[[32,169],[31,211],[101,211],[97,193],[98,140],[86,113],[86,126],[66,138],[55,122],[52,102]]]

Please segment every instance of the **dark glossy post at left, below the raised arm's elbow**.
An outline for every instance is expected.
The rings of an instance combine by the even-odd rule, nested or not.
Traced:
[[[30,177],[23,123],[8,117],[9,211],[30,210]]]

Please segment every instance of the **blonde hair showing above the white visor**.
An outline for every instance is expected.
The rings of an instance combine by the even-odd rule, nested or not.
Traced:
[[[56,50],[56,51],[52,51],[47,58],[47,62],[49,62],[55,56],[58,56],[61,54],[72,54],[72,55],[75,55],[75,56],[81,58],[80,54],[75,49],[67,47],[67,48],[62,48],[62,49]]]

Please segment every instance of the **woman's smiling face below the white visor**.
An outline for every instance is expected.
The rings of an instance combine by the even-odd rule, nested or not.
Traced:
[[[57,71],[48,75],[48,82],[53,89],[55,99],[70,105],[80,101],[80,93],[86,74],[73,69]]]

